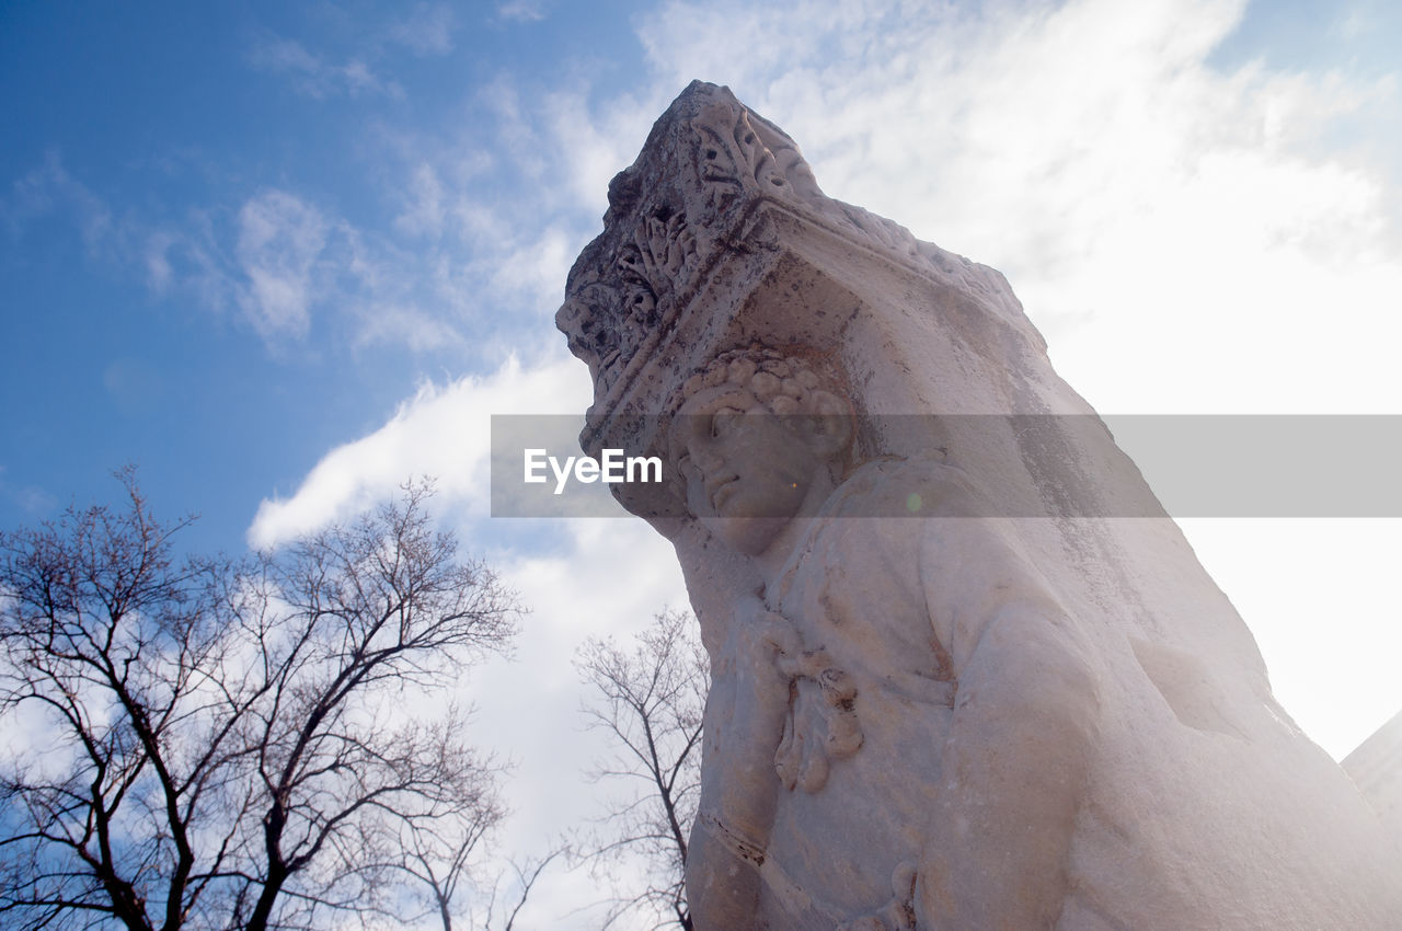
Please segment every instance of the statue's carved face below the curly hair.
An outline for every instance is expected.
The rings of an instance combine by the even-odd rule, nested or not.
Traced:
[[[802,421],[785,419],[744,388],[722,384],[688,398],[673,423],[688,509],[740,552],[770,547],[824,467],[802,436]]]

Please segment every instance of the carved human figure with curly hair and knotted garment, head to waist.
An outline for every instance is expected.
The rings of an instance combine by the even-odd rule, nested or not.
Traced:
[[[851,428],[801,359],[760,351],[714,363],[673,429],[691,513],[764,582],[739,600],[716,665],[693,913],[740,928],[758,903],[805,927],[913,928],[917,876],[974,872],[994,895],[927,886],[923,911],[953,927],[1046,927],[1096,718],[1085,638],[994,523],[862,517],[872,496],[918,494],[938,516],[967,510],[970,492],[942,463],[844,475]],[[986,597],[951,599],[970,589]],[[897,761],[920,778],[892,781]],[[843,850],[815,857],[813,836]],[[787,875],[795,861],[824,902]],[[843,921],[869,904],[848,890],[885,883],[889,903]]]

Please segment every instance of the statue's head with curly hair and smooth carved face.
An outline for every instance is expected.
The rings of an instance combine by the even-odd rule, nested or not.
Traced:
[[[852,409],[802,356],[728,352],[680,391],[669,429],[687,509],[735,550],[765,552],[841,481]]]

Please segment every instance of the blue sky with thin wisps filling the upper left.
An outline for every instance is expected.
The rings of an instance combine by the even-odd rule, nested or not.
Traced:
[[[203,515],[200,543],[237,548],[262,496],[423,379],[538,352],[561,282],[482,287],[461,266],[494,248],[397,219],[421,164],[461,158],[494,215],[472,236],[582,244],[597,210],[533,178],[510,123],[575,72],[617,84],[629,11],[594,11],[10,4],[4,523],[135,461]]]

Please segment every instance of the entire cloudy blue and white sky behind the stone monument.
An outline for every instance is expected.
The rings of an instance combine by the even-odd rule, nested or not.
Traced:
[[[1399,39],[1387,0],[7,3],[0,526],[133,463],[237,554],[436,477],[531,609],[471,683],[529,855],[597,813],[578,645],[686,593],[642,522],[489,517],[489,416],[587,405],[565,273],[691,79],[1002,271],[1102,414],[1396,415]],[[1402,522],[1180,523],[1325,750],[1402,709]]]

